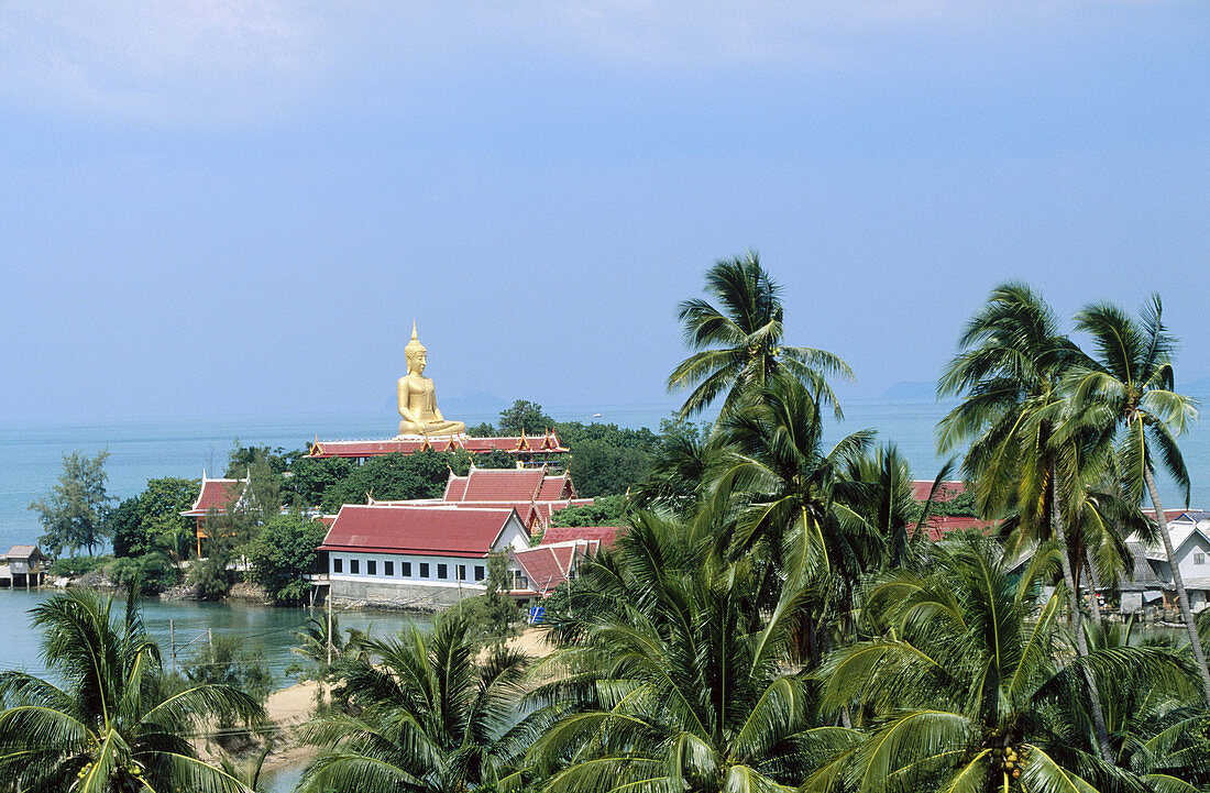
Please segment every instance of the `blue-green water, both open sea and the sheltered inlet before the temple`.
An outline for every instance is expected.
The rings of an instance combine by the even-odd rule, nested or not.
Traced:
[[[843,407],[843,421],[829,423],[828,443],[848,432],[874,429],[878,443],[893,442],[908,458],[916,478],[932,479],[945,464],[935,450],[934,427],[951,404],[883,396],[848,398]],[[554,406],[546,410],[560,421],[600,421],[658,431],[661,421],[672,418],[673,406]],[[457,415],[474,425],[495,421],[499,409],[462,410]],[[41,529],[29,504],[50,490],[62,471],[63,455],[71,452],[94,455],[108,450],[108,492],[115,499],[125,499],[140,493],[150,478],[200,477],[203,471],[221,475],[236,438],[241,446],[290,450],[304,448],[316,437],[327,441],[388,437],[394,421],[390,413],[380,410],[272,419],[123,419],[0,426],[0,552],[11,545],[38,541]],[[1210,431],[1194,426],[1182,436],[1181,448],[1193,481],[1191,504],[1210,508]],[[1170,482],[1162,479],[1160,489],[1165,508],[1185,505]],[[50,590],[0,590],[0,625],[10,628],[0,643],[0,670],[45,672],[39,636],[22,626],[28,624],[29,610],[50,594]],[[149,631],[166,649],[166,660],[171,660],[174,650],[177,662],[183,665],[212,634],[237,636],[260,654],[282,686],[294,682],[293,632],[311,616],[304,609],[155,599],[144,602],[143,614]],[[357,628],[374,636],[397,634],[413,619],[417,617],[370,611],[339,615],[342,630]],[[301,770],[301,764],[277,770],[267,789],[273,793],[292,789]]]

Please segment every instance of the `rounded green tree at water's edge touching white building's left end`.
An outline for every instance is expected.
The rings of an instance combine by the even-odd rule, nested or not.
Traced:
[[[302,516],[283,515],[270,521],[248,548],[252,580],[275,603],[301,603],[311,585],[302,577],[315,571],[316,547],[327,527]]]

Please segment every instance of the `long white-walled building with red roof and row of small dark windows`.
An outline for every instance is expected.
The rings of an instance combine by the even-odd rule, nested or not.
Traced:
[[[512,507],[346,504],[318,551],[334,601],[434,609],[486,592],[491,553],[528,547]],[[509,579],[512,590],[530,590],[512,558]]]

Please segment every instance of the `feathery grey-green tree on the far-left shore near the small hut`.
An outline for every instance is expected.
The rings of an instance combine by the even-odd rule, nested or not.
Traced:
[[[105,493],[105,460],[109,450],[94,458],[80,452],[63,455],[63,473],[50,492],[33,501],[29,508],[38,513],[44,534],[38,538],[42,550],[54,557],[64,548],[74,554],[80,548],[105,544],[106,517],[113,499]]]

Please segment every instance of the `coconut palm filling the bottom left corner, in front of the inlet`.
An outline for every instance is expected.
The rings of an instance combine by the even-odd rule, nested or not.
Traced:
[[[246,791],[197,758],[190,739],[219,714],[249,724],[260,705],[227,685],[172,693],[139,616],[87,591],[54,594],[33,610],[42,659],[58,684],[0,672],[0,789],[79,793]]]

